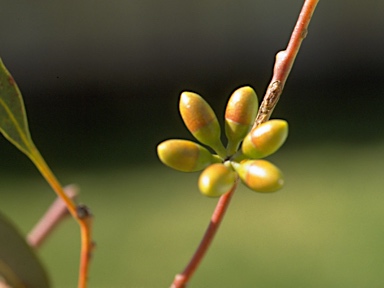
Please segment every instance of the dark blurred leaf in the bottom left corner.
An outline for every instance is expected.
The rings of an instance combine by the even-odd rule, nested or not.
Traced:
[[[13,288],[50,287],[47,274],[32,248],[0,214],[0,286],[2,278]]]

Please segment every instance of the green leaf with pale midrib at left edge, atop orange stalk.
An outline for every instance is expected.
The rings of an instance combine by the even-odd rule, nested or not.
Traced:
[[[0,132],[13,145],[31,157],[31,139],[21,92],[0,59]]]

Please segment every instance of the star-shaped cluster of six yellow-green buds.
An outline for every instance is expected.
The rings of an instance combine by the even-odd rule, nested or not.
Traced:
[[[183,171],[202,171],[198,186],[209,197],[229,192],[238,178],[256,192],[274,192],[284,183],[281,171],[261,158],[275,153],[288,136],[285,120],[270,120],[252,129],[258,110],[255,91],[237,89],[225,110],[227,146],[221,142],[219,121],[209,104],[198,94],[183,92],[179,110],[192,135],[206,147],[190,140],[169,139],[157,146],[160,160]]]

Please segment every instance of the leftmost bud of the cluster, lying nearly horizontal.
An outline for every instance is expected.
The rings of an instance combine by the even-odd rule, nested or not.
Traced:
[[[170,139],[157,146],[157,155],[165,165],[183,172],[199,171],[221,159],[203,146],[180,139]]]

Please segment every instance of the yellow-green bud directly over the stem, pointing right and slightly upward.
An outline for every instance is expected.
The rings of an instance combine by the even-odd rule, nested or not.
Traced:
[[[252,129],[245,137],[241,150],[251,159],[264,158],[275,153],[288,136],[285,120],[270,120]]]

